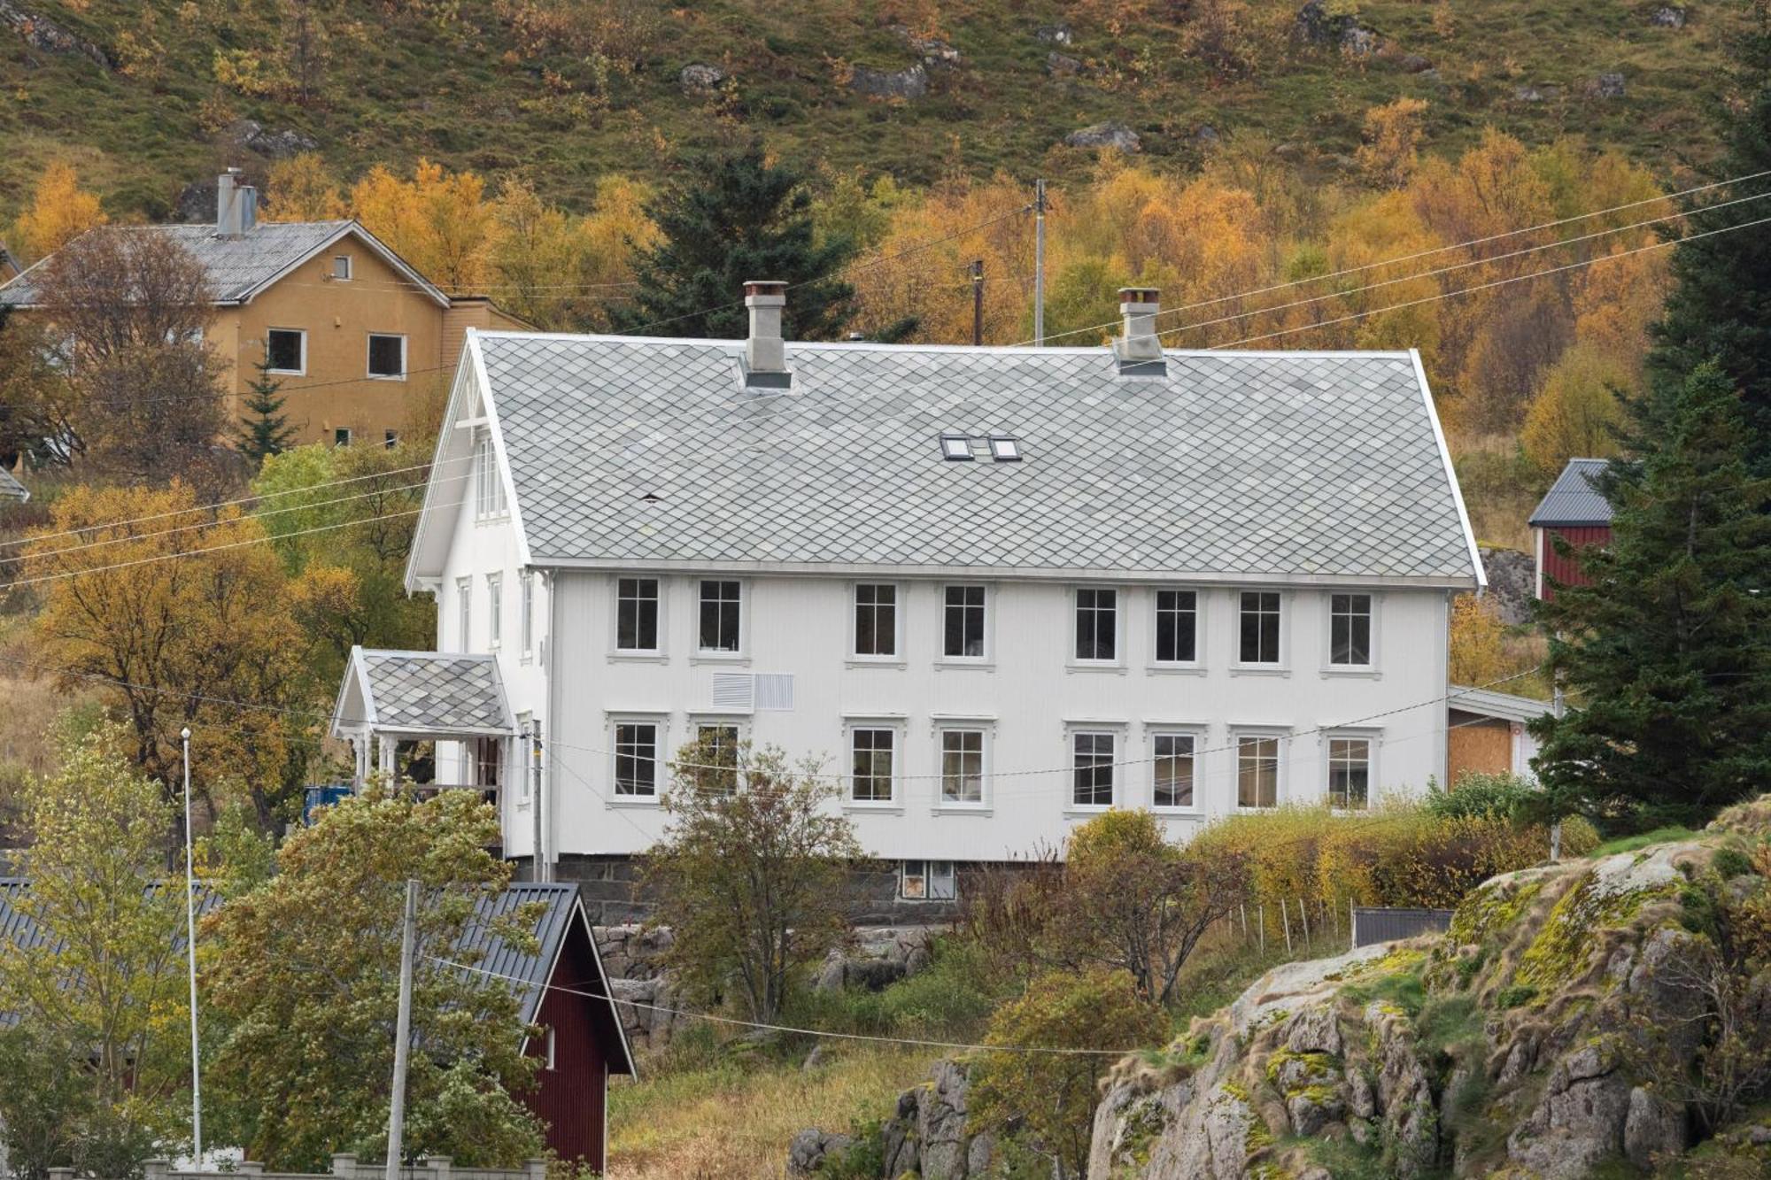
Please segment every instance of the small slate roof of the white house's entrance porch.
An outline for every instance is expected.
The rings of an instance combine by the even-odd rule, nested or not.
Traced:
[[[352,661],[360,661],[367,680],[375,728],[512,732],[505,684],[492,656],[358,650]]]

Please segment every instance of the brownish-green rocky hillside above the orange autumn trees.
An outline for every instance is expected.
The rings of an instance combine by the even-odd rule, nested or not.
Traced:
[[[1672,175],[1707,154],[1698,99],[1744,7],[1328,0],[1300,19],[1296,0],[0,0],[0,214],[55,158],[113,216],[163,218],[223,161],[255,170],[306,145],[344,174],[418,156],[521,168],[584,207],[599,175],[739,129],[910,182],[953,167],[1077,175],[1091,151],[1063,142],[1100,122],[1158,167],[1257,135],[1332,170],[1364,112],[1403,96],[1429,103],[1435,151],[1493,124]],[[685,80],[687,66],[714,69]]]

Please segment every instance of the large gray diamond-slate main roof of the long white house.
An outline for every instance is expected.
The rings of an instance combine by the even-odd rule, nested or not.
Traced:
[[[742,342],[478,338],[537,562],[1475,578],[1406,353],[788,344],[781,393]]]

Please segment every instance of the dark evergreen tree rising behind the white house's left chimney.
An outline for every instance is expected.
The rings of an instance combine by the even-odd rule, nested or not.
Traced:
[[[769,163],[751,142],[689,168],[691,181],[646,211],[657,245],[638,252],[639,283],[613,319],[630,335],[740,338],[747,331],[742,287],[767,278],[792,285],[781,319],[790,340],[829,340],[854,315],[855,289],[836,273],[854,239],[818,241],[804,177]]]

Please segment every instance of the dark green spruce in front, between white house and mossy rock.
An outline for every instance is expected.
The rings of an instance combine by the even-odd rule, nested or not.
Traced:
[[[1771,480],[1744,415],[1718,365],[1697,369],[1659,445],[1605,480],[1612,544],[1582,553],[1590,585],[1539,604],[1574,702],[1532,723],[1562,810],[1693,822],[1771,781]]]

